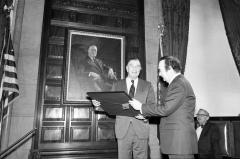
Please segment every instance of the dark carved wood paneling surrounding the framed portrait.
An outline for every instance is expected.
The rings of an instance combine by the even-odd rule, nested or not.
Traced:
[[[123,36],[124,60],[138,57],[145,78],[143,12],[143,0],[46,0],[32,158],[117,158],[114,117],[64,101],[68,31]]]

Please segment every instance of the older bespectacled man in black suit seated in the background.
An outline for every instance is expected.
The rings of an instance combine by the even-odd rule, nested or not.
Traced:
[[[209,123],[209,113],[199,109],[196,132],[198,136],[198,159],[215,159],[220,153],[220,132],[216,124]]]

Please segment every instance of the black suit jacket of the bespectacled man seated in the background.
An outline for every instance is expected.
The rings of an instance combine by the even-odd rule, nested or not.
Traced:
[[[199,158],[214,159],[220,154],[220,132],[214,123],[207,122],[202,129],[198,140]]]

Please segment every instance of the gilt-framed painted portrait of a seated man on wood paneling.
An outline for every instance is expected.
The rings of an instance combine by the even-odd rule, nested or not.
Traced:
[[[69,30],[65,102],[88,101],[86,92],[110,91],[124,78],[124,60],[124,36]]]

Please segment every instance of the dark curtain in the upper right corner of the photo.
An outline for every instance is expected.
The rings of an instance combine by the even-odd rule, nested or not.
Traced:
[[[219,4],[228,42],[240,74],[240,0],[219,0]]]

